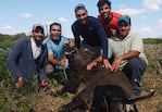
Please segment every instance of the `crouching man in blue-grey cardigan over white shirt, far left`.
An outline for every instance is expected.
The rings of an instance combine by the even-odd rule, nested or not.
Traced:
[[[7,63],[12,72],[15,88],[30,84],[35,74],[38,75],[41,87],[48,85],[43,70],[47,58],[47,49],[41,45],[43,37],[43,26],[35,24],[32,38],[21,38],[11,50]]]

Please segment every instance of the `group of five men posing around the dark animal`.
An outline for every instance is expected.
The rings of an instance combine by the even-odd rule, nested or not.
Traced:
[[[84,4],[75,7],[77,20],[72,24],[74,43],[62,36],[60,23],[50,24],[50,36],[46,39],[43,27],[35,24],[32,38],[21,38],[7,60],[14,87],[30,83],[35,74],[38,75],[41,87],[48,86],[47,74],[51,74],[54,69],[68,67],[68,61],[64,57],[65,46],[75,46],[95,53],[95,60],[88,63],[87,71],[98,62],[111,71],[123,71],[133,85],[134,95],[139,96],[141,76],[147,69],[142,39],[130,33],[132,22],[128,15],[111,11],[109,0],[99,0],[97,7],[98,17],[89,16]]]

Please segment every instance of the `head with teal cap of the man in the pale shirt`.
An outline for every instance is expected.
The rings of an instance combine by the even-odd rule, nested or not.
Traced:
[[[117,20],[117,30],[121,38],[124,38],[128,35],[130,30],[130,17],[128,15],[122,15]]]

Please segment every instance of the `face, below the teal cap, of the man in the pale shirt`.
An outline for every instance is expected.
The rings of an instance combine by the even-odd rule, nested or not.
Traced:
[[[130,30],[130,24],[122,21],[122,22],[119,23],[117,29],[119,29],[119,33],[120,33],[120,37],[124,38],[128,35],[128,33]]]

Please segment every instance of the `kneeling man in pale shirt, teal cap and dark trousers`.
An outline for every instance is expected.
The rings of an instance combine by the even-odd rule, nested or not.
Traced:
[[[113,57],[112,71],[123,71],[133,86],[133,96],[139,96],[141,77],[147,70],[147,59],[144,53],[142,39],[130,33],[130,17],[122,15],[117,22],[117,35],[109,39],[110,58]],[[101,62],[101,57],[96,59],[87,70]]]

